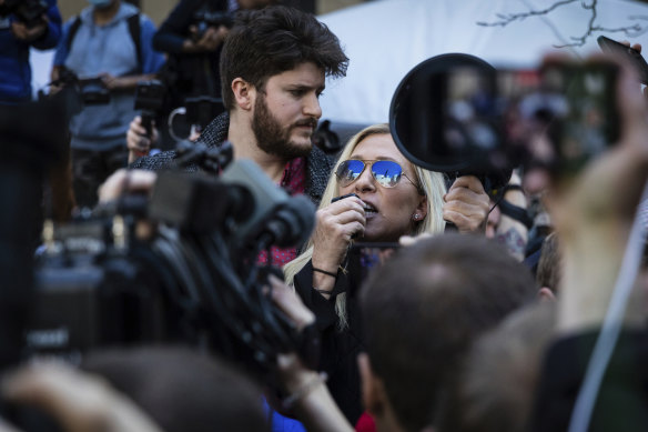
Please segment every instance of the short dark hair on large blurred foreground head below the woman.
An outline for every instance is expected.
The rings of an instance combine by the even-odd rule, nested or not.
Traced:
[[[535,298],[530,272],[506,250],[459,234],[404,248],[361,290],[372,370],[406,431],[434,424],[473,339]]]

